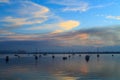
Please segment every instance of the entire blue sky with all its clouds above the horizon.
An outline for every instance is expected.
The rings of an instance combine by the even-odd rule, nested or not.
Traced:
[[[120,0],[0,0],[0,50],[120,51]]]

